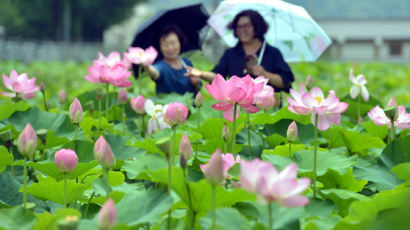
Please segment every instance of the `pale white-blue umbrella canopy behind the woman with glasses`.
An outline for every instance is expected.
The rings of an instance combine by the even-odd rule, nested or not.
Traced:
[[[316,61],[332,40],[303,7],[280,0],[226,0],[219,4],[208,24],[229,45],[238,39],[227,25],[243,10],[259,12],[269,24],[266,41],[277,47],[287,62]]]

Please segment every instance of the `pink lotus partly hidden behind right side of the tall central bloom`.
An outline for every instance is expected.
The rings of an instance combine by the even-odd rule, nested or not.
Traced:
[[[268,81],[269,80],[263,76],[259,76],[254,80],[255,84],[260,82],[264,83],[262,91],[256,93],[253,99],[253,103],[256,104],[259,109],[272,109],[275,105],[275,90],[272,86],[268,85]]]

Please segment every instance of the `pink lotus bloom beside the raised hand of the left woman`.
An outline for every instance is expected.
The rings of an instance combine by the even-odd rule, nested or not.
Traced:
[[[128,53],[124,53],[125,61],[137,65],[142,64],[145,66],[152,65],[157,56],[158,52],[152,46],[145,50],[140,47],[130,47],[128,48]]]

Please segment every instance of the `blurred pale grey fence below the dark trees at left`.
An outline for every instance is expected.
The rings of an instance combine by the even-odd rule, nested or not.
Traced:
[[[111,51],[121,51],[116,47],[106,47],[103,43],[33,41],[0,38],[0,60],[32,61],[76,61],[91,62],[98,52],[107,55]]]

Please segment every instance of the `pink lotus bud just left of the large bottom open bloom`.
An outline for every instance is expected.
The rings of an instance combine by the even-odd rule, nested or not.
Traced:
[[[224,180],[224,161],[221,150],[217,149],[211,156],[211,160],[204,165],[200,165],[205,178],[213,186],[220,184]]]

